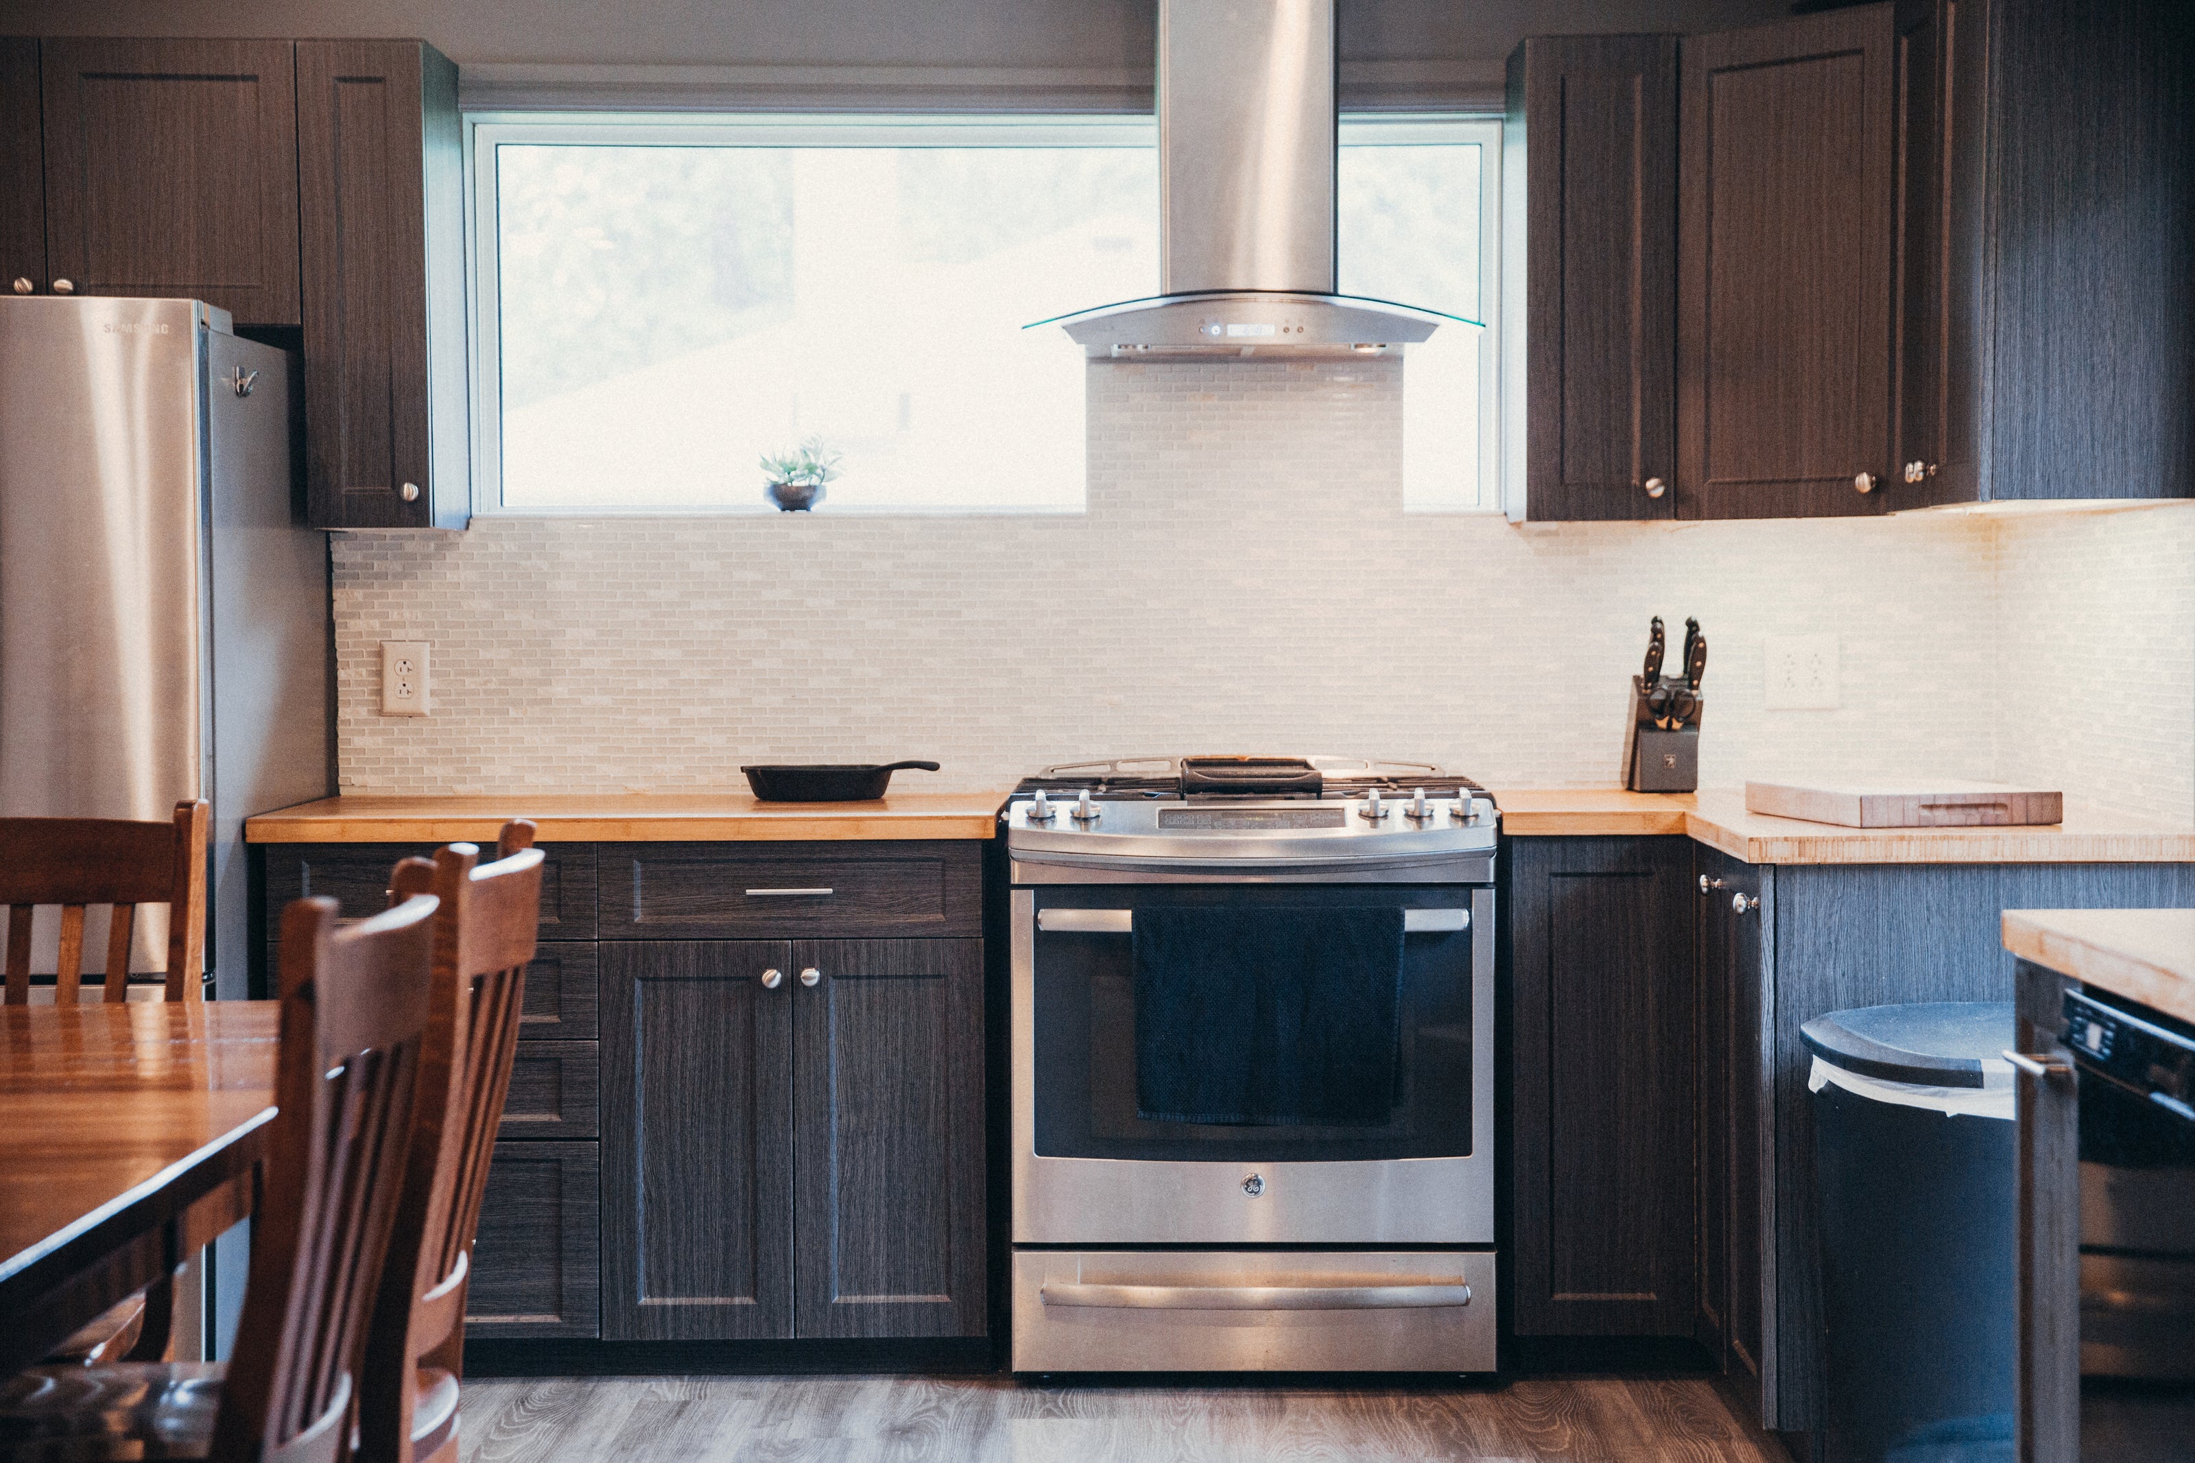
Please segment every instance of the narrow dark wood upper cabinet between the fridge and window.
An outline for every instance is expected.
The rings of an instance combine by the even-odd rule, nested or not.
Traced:
[[[307,520],[463,529],[457,66],[424,42],[299,42],[296,151]]]

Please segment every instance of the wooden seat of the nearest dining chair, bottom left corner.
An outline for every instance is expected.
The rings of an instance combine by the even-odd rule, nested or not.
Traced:
[[[33,1366],[0,1382],[0,1459],[204,1459],[224,1371],[219,1362]]]

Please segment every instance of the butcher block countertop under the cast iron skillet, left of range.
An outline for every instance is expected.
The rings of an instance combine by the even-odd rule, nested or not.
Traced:
[[[893,792],[874,803],[757,803],[748,792],[542,794],[299,803],[244,823],[246,842],[494,842],[531,818],[542,842],[812,842],[990,838],[999,792]]]

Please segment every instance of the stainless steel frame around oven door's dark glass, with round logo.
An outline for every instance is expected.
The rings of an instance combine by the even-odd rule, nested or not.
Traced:
[[[1337,1163],[1036,1152],[1036,893],[1012,893],[1014,1244],[1493,1244],[1495,893],[1471,893],[1471,1154]],[[1256,1184],[1251,1176],[1256,1173]]]

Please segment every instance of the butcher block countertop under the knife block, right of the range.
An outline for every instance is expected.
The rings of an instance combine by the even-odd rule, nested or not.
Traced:
[[[1747,864],[2184,864],[2195,825],[2065,803],[2048,827],[1855,829],[1745,812],[1738,787],[1495,787],[1501,829],[1536,836],[1686,833]]]

